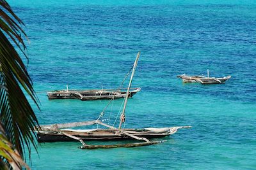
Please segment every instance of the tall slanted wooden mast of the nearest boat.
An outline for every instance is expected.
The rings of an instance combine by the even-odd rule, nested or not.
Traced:
[[[129,85],[128,85],[128,88],[127,88],[126,96],[125,96],[124,108],[123,108],[122,114],[120,115],[120,124],[119,124],[118,129],[121,129],[122,120],[123,120],[124,117],[125,117],[125,108],[126,108],[127,100],[128,100],[128,97],[129,97],[129,90],[130,90],[131,85],[132,85],[132,78],[133,78],[133,76],[134,76],[134,73],[135,73],[135,70],[136,70],[136,67],[137,67],[139,58],[140,58],[140,52],[138,52],[137,57],[136,57],[136,60],[135,60],[135,62],[134,62],[134,64],[133,64],[132,74],[131,74],[131,78],[130,78],[130,81],[129,81]]]

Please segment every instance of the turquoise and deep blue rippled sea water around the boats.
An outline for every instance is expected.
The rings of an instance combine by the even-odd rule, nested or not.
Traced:
[[[256,169],[255,1],[8,2],[26,24],[40,124],[97,118],[108,101],[49,101],[44,91],[116,88],[141,51],[132,83],[141,92],[128,101],[125,127],[193,126],[138,148],[42,143],[32,169]],[[232,78],[176,77],[207,69]],[[122,101],[107,111],[110,122]]]

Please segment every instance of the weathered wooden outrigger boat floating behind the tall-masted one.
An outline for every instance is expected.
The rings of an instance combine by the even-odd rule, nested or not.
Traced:
[[[140,87],[131,88],[129,97],[140,92]],[[127,89],[100,89],[100,90],[56,90],[47,92],[48,98],[51,99],[80,99],[81,101],[92,101],[98,99],[115,99],[126,96]]]

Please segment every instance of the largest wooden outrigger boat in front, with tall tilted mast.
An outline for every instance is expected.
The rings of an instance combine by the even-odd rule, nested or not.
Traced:
[[[164,127],[164,128],[141,128],[141,129],[125,129],[122,128],[122,124],[125,122],[125,108],[127,106],[128,97],[130,94],[130,87],[132,83],[132,78],[134,76],[134,72],[136,70],[136,66],[138,64],[138,60],[140,57],[140,52],[138,53],[134,65],[132,67],[131,79],[129,81],[129,86],[127,88],[126,96],[124,99],[124,107],[122,109],[122,113],[120,114],[120,123],[118,128],[113,125],[105,124],[103,115],[104,111],[108,107],[104,108],[104,110],[100,113],[97,120],[87,121],[87,122],[73,122],[67,124],[52,124],[52,125],[41,125],[40,127],[35,127],[38,142],[56,142],[56,141],[80,141],[82,146],[81,149],[95,149],[95,148],[117,148],[117,147],[135,147],[135,146],[146,146],[146,145],[154,145],[157,143],[163,143],[166,140],[159,141],[150,141],[152,138],[163,138],[165,136],[170,136],[177,132],[179,129],[189,128],[191,126],[179,126],[179,127]],[[118,118],[118,115],[116,118]],[[116,121],[115,121],[116,122]],[[102,125],[107,128],[99,129],[67,129],[70,127],[81,127],[86,125]],[[138,143],[121,143],[116,145],[88,145],[86,141],[120,141],[120,140],[131,140],[136,139],[143,142]]]

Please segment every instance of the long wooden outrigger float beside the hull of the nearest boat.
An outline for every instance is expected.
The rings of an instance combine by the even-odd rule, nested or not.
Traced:
[[[125,144],[116,144],[116,145],[83,145],[83,146],[80,146],[80,148],[81,149],[121,148],[121,147],[129,148],[129,147],[155,145],[158,143],[163,143],[164,141],[149,141],[149,142],[141,142],[141,143],[125,143]]]

